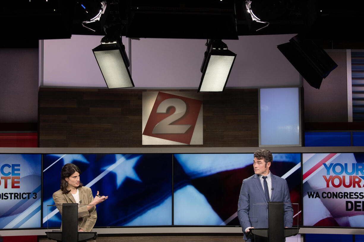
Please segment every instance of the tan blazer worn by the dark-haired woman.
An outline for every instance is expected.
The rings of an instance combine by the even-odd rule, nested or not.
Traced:
[[[90,187],[80,187],[78,192],[81,204],[87,205],[94,200]],[[53,193],[53,201],[56,205],[62,203],[76,203],[71,193],[63,194],[62,190],[58,190]],[[57,208],[62,215],[62,207],[57,206]],[[85,232],[90,232],[96,223],[96,218],[97,214],[95,206],[90,210],[87,210],[87,206],[78,206],[78,230],[82,229]]]

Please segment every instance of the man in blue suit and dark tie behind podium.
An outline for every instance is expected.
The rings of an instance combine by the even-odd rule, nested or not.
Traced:
[[[238,201],[238,218],[244,232],[245,240],[252,240],[246,236],[251,228],[268,227],[267,202],[290,203],[289,189],[285,179],[274,176],[269,172],[273,156],[269,150],[254,152],[254,175],[243,180]],[[255,204],[255,205],[254,205]],[[292,205],[284,205],[284,226],[292,227]],[[253,239],[254,240],[254,239]]]

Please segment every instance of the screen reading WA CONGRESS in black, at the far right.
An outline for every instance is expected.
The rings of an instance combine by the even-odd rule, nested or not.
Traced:
[[[364,153],[302,154],[304,225],[364,227]]]

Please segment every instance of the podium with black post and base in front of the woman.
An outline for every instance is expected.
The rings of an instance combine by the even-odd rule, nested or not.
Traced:
[[[79,232],[78,231],[78,207],[87,206],[79,205],[78,203],[63,203],[47,206],[47,218],[50,218],[57,213],[57,209],[52,209],[56,206],[62,211],[62,230],[52,230],[46,232],[48,239],[53,239],[62,242],[78,242],[90,239],[96,239],[96,232]],[[53,210],[49,212],[50,210]]]

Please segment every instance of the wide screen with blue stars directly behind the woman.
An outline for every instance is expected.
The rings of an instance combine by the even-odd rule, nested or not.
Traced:
[[[77,165],[80,180],[98,204],[95,227],[172,225],[172,154],[45,154],[43,157],[43,227],[59,227],[62,217],[52,194],[60,189],[60,172]]]

